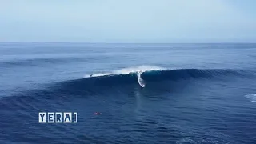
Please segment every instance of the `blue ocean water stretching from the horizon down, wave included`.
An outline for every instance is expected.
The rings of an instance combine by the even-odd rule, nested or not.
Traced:
[[[255,142],[256,44],[0,43],[0,143]]]

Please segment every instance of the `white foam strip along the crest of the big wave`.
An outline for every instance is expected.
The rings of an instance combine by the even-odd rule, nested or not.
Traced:
[[[86,74],[84,78],[101,77],[101,76],[112,75],[112,74],[130,74],[130,73],[137,73],[138,71],[145,72],[145,71],[151,71],[151,70],[166,70],[166,69],[158,66],[136,66],[136,67],[124,68],[121,70],[114,70],[108,73],[92,74],[91,76],[90,74]]]

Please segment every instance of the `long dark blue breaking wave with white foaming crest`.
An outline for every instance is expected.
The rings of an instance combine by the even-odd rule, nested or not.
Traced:
[[[221,80],[227,78],[246,77],[248,71],[229,69],[166,69],[158,66],[138,66],[114,70],[108,73],[87,74],[84,78],[71,79],[62,82],[53,82],[42,86],[42,90],[29,90],[25,95],[36,93],[44,95],[67,95],[67,94],[98,94],[112,90],[130,90],[135,87],[146,87],[147,90],[169,90],[171,87],[180,89],[190,82],[197,80]],[[113,89],[114,88],[114,89]],[[113,91],[112,91],[113,92]],[[124,91],[123,93],[126,93]],[[13,95],[13,94],[12,94]],[[14,94],[16,95],[16,94]],[[19,94],[20,95],[20,94]]]

